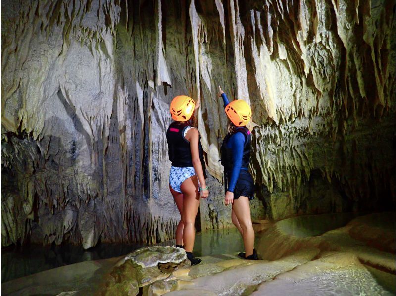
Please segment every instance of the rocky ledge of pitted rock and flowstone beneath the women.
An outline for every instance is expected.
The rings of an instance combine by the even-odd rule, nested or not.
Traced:
[[[100,293],[150,296],[394,294],[395,231],[389,225],[395,214],[360,216],[346,226],[328,231],[323,226],[329,221],[337,225],[344,218],[316,215],[305,220],[297,217],[279,221],[257,233],[257,248],[262,259],[258,261],[223,254],[201,257],[201,264],[191,266],[183,261],[184,251],[179,248],[144,248],[120,261]],[[305,221],[306,230],[311,224],[315,231],[321,228],[324,233],[296,232],[296,225],[301,226],[301,221]],[[322,224],[320,227],[318,222]],[[175,252],[172,258],[170,250]],[[162,258],[158,256],[160,253]],[[167,261],[167,257],[173,265],[163,269],[160,262]]]

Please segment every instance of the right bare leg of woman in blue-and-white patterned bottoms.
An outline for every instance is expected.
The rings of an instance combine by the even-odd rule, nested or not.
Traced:
[[[185,180],[180,186],[183,191],[183,215],[184,224],[183,242],[186,252],[193,252],[195,240],[195,217],[199,208],[198,178],[193,176]]]

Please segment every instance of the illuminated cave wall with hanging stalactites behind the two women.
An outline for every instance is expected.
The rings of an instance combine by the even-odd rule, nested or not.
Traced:
[[[2,246],[171,239],[180,94],[201,106],[200,226],[230,226],[218,84],[253,110],[255,217],[394,206],[394,3],[205,2],[2,1]]]

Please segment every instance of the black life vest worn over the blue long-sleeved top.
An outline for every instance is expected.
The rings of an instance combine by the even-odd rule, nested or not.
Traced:
[[[242,167],[248,168],[250,162],[250,144],[251,144],[251,136],[250,131],[247,127],[241,126],[234,129],[233,133],[228,133],[224,139],[223,144],[221,145],[221,164],[224,166],[224,172],[230,172],[233,169],[233,151],[230,148],[227,148],[226,144],[230,137],[235,133],[241,132],[245,135],[245,143],[244,143],[244,152],[242,154]]]

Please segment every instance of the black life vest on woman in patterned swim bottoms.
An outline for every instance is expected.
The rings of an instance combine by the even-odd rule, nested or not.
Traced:
[[[166,141],[168,142],[169,160],[172,166],[188,167],[193,166],[191,157],[190,142],[184,138],[184,130],[190,126],[188,123],[172,122],[166,131]],[[193,127],[194,128],[194,127]],[[201,145],[201,136],[198,141],[199,159],[201,160],[203,175],[206,178],[206,166],[203,160],[203,148]]]

